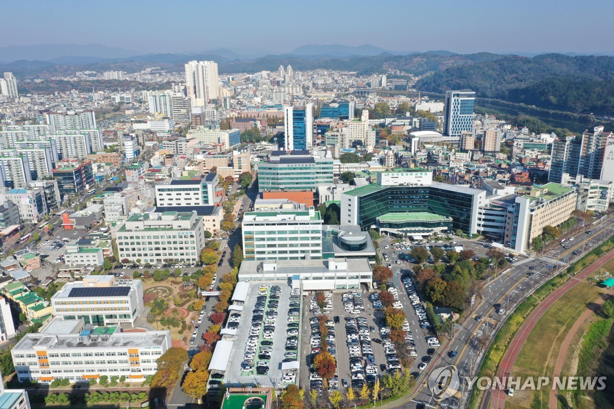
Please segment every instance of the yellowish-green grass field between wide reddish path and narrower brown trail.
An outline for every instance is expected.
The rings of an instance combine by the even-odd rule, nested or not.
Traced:
[[[551,377],[567,332],[585,312],[587,304],[598,299],[601,292],[602,289],[597,286],[579,283],[555,302],[530,332],[511,375],[523,380],[526,377]],[[505,407],[547,408],[549,393],[549,389],[516,391],[514,397],[507,398]]]

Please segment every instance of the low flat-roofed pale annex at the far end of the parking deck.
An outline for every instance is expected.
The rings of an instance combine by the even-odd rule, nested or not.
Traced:
[[[373,272],[367,258],[330,258],[310,260],[244,260],[239,267],[239,281],[292,280],[303,292],[345,291],[368,288]]]

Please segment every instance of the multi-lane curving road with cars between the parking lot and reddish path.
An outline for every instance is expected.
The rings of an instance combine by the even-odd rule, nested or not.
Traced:
[[[498,303],[507,307],[507,305],[513,305],[518,300],[524,299],[527,292],[541,285],[558,271],[553,268],[555,265],[553,261],[561,267],[567,266],[566,262],[571,262],[575,257],[581,257],[586,251],[608,239],[614,234],[614,226],[610,221],[611,218],[608,218],[591,226],[593,233],[590,235],[585,232],[578,232],[572,242],[573,245],[570,245],[567,249],[556,245],[553,250],[545,255],[538,256],[538,258],[521,258],[511,264],[510,269],[505,273],[486,283],[482,291],[482,300],[475,305],[464,323],[456,326],[453,339],[449,340],[448,343],[441,340],[441,348],[439,348],[427,369],[418,378],[419,386],[416,393],[402,402],[395,402],[395,407],[411,409],[416,407],[416,402],[421,402],[429,407],[438,407],[438,397],[433,396],[428,388],[426,383],[428,377],[426,375],[433,369],[447,365],[454,365],[459,371],[459,376],[467,375],[473,369],[477,354],[486,338],[490,336],[495,326],[503,318],[507,318],[506,314],[509,313],[509,311],[506,311],[503,316],[499,315],[494,312],[493,305]],[[572,254],[575,251],[580,253],[575,256]],[[531,267],[534,270],[530,270]],[[527,277],[529,271],[535,273],[530,278]],[[478,315],[483,317],[481,321],[476,321],[475,317]],[[449,357],[450,351],[457,351],[455,359]],[[468,395],[470,391],[461,391],[461,393]]]

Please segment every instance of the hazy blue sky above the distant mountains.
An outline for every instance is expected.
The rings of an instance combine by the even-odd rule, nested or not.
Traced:
[[[98,43],[138,53],[219,47],[284,53],[304,44],[372,44],[614,55],[614,0],[2,0],[2,15],[0,47]]]

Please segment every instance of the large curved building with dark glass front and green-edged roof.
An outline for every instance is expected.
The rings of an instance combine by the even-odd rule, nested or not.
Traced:
[[[424,174],[422,169],[399,173],[402,176],[397,178],[389,175],[379,178],[390,185],[371,183],[344,192],[341,224],[356,224],[363,231],[384,229],[410,237],[457,229],[467,234],[477,232],[478,208],[486,202],[485,191],[429,183],[429,177],[419,175]]]

